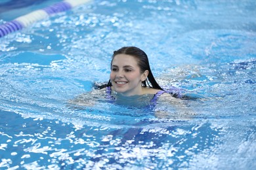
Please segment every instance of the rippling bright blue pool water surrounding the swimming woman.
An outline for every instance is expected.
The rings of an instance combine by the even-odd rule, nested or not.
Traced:
[[[93,1],[2,37],[0,168],[253,169],[255,7]],[[164,102],[165,118],[106,102],[67,105],[108,81],[112,52],[131,45],[148,54],[161,85],[194,97],[184,102],[196,115]]]

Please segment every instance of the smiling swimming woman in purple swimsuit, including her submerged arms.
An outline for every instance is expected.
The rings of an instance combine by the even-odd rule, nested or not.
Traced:
[[[164,107],[171,106],[169,108],[175,109],[177,114],[194,114],[182,100],[177,99],[179,94],[170,95],[160,87],[150,69],[148,56],[135,46],[125,46],[114,51],[110,80],[108,84],[98,86],[98,89],[79,95],[70,104],[92,106],[100,103],[102,96],[106,95],[107,101],[117,104],[147,107],[155,106],[156,101],[159,101]],[[158,118],[171,116],[162,107],[154,110]]]

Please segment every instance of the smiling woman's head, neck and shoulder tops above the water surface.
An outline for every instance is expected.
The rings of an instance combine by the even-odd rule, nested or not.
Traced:
[[[123,97],[154,94],[151,101],[156,101],[160,95],[168,95],[156,82],[146,53],[135,46],[114,51],[110,80],[106,87],[109,95],[112,91]]]

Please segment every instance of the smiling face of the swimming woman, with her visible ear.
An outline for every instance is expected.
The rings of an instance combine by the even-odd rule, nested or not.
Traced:
[[[112,60],[110,80],[117,93],[123,95],[141,95],[142,81],[146,80],[148,71],[140,73],[137,60],[127,54],[117,54]]]

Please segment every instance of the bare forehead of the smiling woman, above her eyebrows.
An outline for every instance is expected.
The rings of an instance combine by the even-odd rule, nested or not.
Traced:
[[[137,66],[138,62],[135,57],[127,55],[127,54],[117,54],[114,56],[114,59],[112,61],[112,65],[131,65],[131,66]]]

